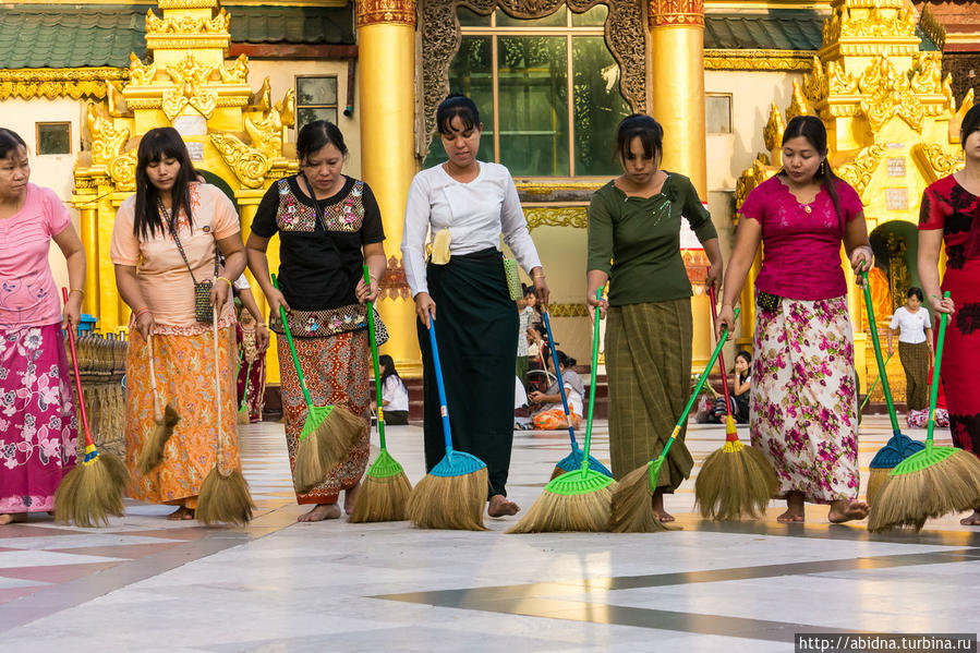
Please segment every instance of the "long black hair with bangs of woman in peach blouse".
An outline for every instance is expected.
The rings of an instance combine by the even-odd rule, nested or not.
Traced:
[[[176,229],[176,219],[182,210],[187,216],[187,223],[194,229],[194,216],[191,211],[191,182],[197,181],[197,172],[187,154],[187,146],[172,126],[160,126],[149,130],[140,141],[136,150],[136,210],[133,216],[133,235],[146,240],[155,238],[157,230],[164,232],[164,217],[159,210],[160,194],[149,181],[146,168],[150,164],[164,159],[177,159],[180,170],[173,180],[170,191],[171,230]]]

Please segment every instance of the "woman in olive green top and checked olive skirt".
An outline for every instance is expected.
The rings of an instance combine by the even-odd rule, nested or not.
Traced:
[[[711,262],[707,285],[722,280],[722,251],[707,209],[691,181],[660,169],[663,129],[649,116],[619,123],[624,173],[589,206],[589,304],[608,310],[609,451],[621,479],[660,456],[690,397],[691,283],[680,257],[686,218]],[[608,300],[596,291],[609,281]],[[594,309],[593,309],[594,310]],[[664,493],[691,473],[681,431],[661,468],[653,508],[661,521]]]

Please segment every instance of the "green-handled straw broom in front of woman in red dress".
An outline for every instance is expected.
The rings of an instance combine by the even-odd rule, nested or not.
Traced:
[[[949,292],[944,297],[948,298]],[[872,533],[895,527],[919,531],[930,517],[972,510],[980,505],[980,460],[957,447],[937,447],[932,439],[947,322],[948,315],[940,314],[925,447],[896,464],[885,479],[868,515],[868,530]]]

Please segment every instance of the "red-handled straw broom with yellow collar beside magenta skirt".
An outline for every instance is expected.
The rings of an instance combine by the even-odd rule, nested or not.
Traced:
[[[68,302],[68,289],[61,294]],[[82,375],[78,373],[78,354],[75,352],[75,329],[68,328],[71,344],[72,370],[75,375],[75,390],[78,394],[78,414],[82,416],[82,428],[85,432],[85,458],[75,469],[61,480],[55,493],[55,518],[64,523],[80,527],[98,527],[109,523],[109,516],[122,517],[125,508],[122,505],[122,493],[129,483],[130,474],[119,458],[108,451],[99,454],[88,428],[88,412],[85,410],[85,396],[82,394]]]

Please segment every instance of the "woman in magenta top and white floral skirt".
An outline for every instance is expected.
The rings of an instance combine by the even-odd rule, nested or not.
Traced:
[[[733,326],[762,242],[749,431],[779,477],[777,497],[788,508],[782,522],[803,521],[806,501],[830,504],[835,523],[868,516],[857,500],[857,387],[840,243],[855,274],[873,257],[861,198],[834,174],[826,143],[819,118],[786,125],[783,169],[739,209],[718,314],[721,335]]]

